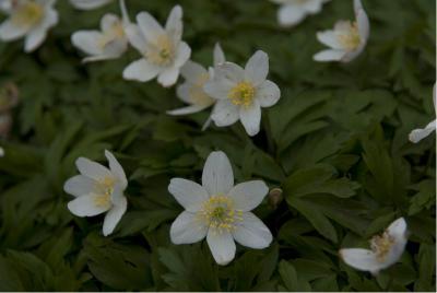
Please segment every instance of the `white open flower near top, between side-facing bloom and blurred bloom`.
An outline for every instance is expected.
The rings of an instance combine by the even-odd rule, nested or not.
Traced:
[[[143,58],[129,65],[123,71],[127,80],[141,82],[157,77],[163,86],[176,83],[180,68],[190,59],[191,49],[181,42],[182,9],[173,8],[165,28],[147,12],[137,15],[138,25],[126,30],[130,44]]]

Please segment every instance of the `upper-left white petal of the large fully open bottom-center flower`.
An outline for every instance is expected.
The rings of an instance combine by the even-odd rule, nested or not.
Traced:
[[[168,191],[189,212],[199,211],[209,198],[203,186],[182,178],[173,178],[168,185]]]

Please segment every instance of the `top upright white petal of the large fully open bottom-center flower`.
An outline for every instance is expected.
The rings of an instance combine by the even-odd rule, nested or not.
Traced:
[[[234,186],[234,173],[224,152],[212,152],[203,166],[202,186],[210,196],[227,195]]]

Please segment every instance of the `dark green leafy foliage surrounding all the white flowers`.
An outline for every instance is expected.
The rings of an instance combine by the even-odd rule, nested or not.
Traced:
[[[98,26],[118,4],[81,12],[58,1],[60,23],[25,54],[0,44],[0,86],[16,84],[20,104],[1,142],[0,290],[2,291],[435,291],[435,134],[408,134],[434,119],[436,15],[430,0],[364,0],[370,37],[351,63],[320,63],[316,32],[353,19],[352,1],[331,1],[293,28],[263,0],[128,0],[130,15],[160,21],[184,8],[191,59],[209,66],[220,42],[244,65],[270,56],[280,102],[262,112],[259,134],[240,124],[201,131],[209,112],[172,117],[175,86],[121,78],[138,59],[82,65],[73,32]],[[128,212],[109,237],[103,216],[76,218],[63,189],[74,161],[114,152],[129,178]],[[176,246],[169,225],[182,211],[167,191],[173,177],[199,181],[211,151],[229,157],[236,181],[280,187],[255,213],[273,234],[263,250],[237,247],[217,266],[205,243]],[[277,194],[276,194],[277,195]],[[347,267],[342,247],[366,246],[404,216],[409,243],[400,262],[377,277]]]

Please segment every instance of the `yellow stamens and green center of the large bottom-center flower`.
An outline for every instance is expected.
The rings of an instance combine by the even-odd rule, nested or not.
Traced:
[[[203,203],[198,219],[205,222],[213,233],[232,232],[243,221],[243,211],[234,209],[234,202],[226,196],[213,196]]]

